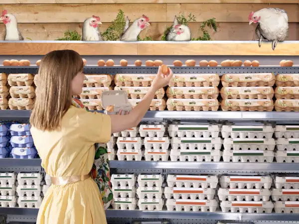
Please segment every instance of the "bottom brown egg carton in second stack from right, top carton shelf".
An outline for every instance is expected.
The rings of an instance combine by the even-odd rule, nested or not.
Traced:
[[[273,100],[225,99],[221,101],[222,111],[273,111]]]

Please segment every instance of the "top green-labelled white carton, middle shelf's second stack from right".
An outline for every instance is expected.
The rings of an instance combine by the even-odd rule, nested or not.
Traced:
[[[272,138],[274,128],[270,125],[223,125],[223,138]]]

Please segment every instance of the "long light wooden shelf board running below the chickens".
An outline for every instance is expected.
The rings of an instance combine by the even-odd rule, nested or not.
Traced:
[[[0,41],[0,55],[44,55],[53,50],[72,49],[81,55],[278,55],[298,56],[299,41]]]

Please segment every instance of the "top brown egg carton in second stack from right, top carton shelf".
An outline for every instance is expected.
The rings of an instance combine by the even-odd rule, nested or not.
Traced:
[[[224,74],[221,83],[224,87],[273,86],[275,75],[273,73]]]

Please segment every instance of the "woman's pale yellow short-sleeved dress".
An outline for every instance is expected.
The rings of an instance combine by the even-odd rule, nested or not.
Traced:
[[[110,116],[71,106],[61,126],[61,131],[53,132],[31,128],[42,167],[52,177],[88,174],[94,144],[110,139]],[[52,185],[40,206],[37,224],[107,224],[97,184],[90,177],[64,186]]]

